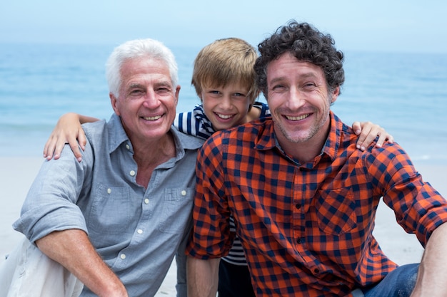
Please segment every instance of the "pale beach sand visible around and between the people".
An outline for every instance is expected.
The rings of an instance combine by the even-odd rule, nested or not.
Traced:
[[[23,236],[14,231],[11,224],[19,217],[21,204],[42,162],[44,159],[40,157],[0,157],[0,263]],[[415,162],[415,165],[423,178],[447,197],[447,167],[423,162]],[[423,248],[416,236],[406,234],[398,226],[393,212],[383,202],[378,209],[374,235],[383,251],[397,264],[421,260]],[[173,264],[156,296],[176,296],[175,270]]]

